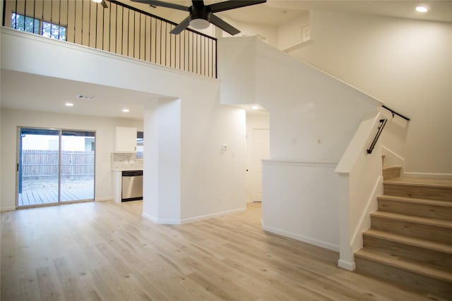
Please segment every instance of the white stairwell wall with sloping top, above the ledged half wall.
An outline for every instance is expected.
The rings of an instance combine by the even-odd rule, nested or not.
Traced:
[[[266,108],[271,159],[339,161],[362,116],[379,106],[373,97],[256,38],[230,37],[218,45],[221,102]]]

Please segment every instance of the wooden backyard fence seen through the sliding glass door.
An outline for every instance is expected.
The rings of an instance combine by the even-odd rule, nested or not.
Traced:
[[[25,149],[22,151],[23,180],[58,176],[59,151]],[[61,152],[61,178],[94,176],[94,152]]]

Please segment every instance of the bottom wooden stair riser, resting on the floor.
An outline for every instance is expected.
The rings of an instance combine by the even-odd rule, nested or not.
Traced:
[[[411,290],[432,293],[448,300],[452,295],[452,283],[415,274],[393,266],[374,262],[369,259],[355,257],[356,271],[362,274],[381,278],[383,281],[396,283]]]

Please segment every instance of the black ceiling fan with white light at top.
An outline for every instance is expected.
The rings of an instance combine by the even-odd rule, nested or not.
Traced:
[[[217,27],[220,27],[222,30],[225,30],[225,32],[228,32],[230,35],[237,35],[237,33],[239,33],[240,30],[233,27],[229,23],[226,23],[224,20],[218,18],[217,16],[214,15],[214,13],[218,13],[220,11],[228,11],[230,9],[240,8],[244,6],[261,4],[265,3],[267,0],[230,0],[209,5],[205,5],[203,0],[191,0],[191,2],[193,3],[192,6],[183,6],[160,0],[131,0],[131,1],[149,4],[150,6],[162,6],[167,8],[174,8],[179,11],[189,11],[189,16],[186,17],[181,23],[179,23],[179,25],[177,25],[171,30],[171,33],[174,35],[178,35],[184,29],[186,29],[186,27],[189,27],[189,25],[196,29],[204,29],[207,28],[210,25],[210,23]]]

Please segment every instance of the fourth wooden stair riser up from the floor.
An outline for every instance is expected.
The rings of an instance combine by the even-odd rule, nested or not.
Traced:
[[[432,206],[395,200],[379,199],[379,211],[406,214],[410,216],[428,217],[452,221],[452,207]]]

